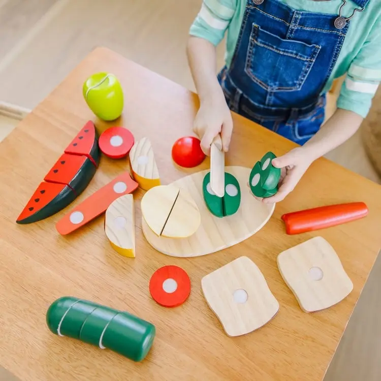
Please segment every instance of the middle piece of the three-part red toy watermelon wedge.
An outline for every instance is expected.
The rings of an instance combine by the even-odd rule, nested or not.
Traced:
[[[68,185],[79,196],[94,176],[96,170],[97,168],[86,156],[64,153],[44,180]]]

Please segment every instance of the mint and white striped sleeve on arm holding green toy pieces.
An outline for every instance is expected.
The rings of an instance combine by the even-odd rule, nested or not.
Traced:
[[[380,82],[381,21],[378,21],[348,69],[337,107],[356,112],[365,118]]]

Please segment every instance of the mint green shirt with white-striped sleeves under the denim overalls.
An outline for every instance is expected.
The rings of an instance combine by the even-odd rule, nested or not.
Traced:
[[[201,9],[190,27],[192,36],[218,45],[226,35],[227,67],[230,66],[247,0],[203,0]],[[342,0],[279,0],[293,9],[337,15]],[[347,0],[343,16],[358,8]],[[374,94],[381,82],[381,2],[370,0],[363,12],[351,19],[336,65],[323,90],[327,92],[335,78],[346,74],[337,107],[366,117]]]

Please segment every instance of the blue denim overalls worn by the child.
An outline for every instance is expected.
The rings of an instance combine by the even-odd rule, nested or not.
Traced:
[[[362,11],[369,0],[353,0]],[[229,108],[300,145],[325,117],[323,94],[348,17],[247,0],[230,68],[218,74]],[[338,17],[339,16],[339,17]]]

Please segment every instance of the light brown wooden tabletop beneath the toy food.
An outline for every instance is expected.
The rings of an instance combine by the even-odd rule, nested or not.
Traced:
[[[170,57],[168,57],[170,59]],[[82,97],[94,72],[114,73],[125,107],[121,120],[99,121]],[[22,91],[22,89],[20,89]],[[278,203],[266,226],[233,247],[198,258],[172,258],[148,245],[136,200],[135,259],[118,255],[104,233],[104,217],[70,236],[56,221],[74,205],[128,168],[126,160],[102,158],[93,180],[74,204],[36,224],[15,220],[63,149],[91,119],[102,132],[110,125],[150,138],[162,182],[184,176],[171,160],[173,142],[192,134],[198,98],[105,48],[97,48],[33,110],[0,145],[0,365],[21,380],[322,380],[381,246],[381,187],[325,159],[316,161],[294,192]],[[294,147],[260,126],[234,115],[234,135],[226,165],[252,167],[264,153],[281,155]],[[207,169],[207,159],[195,172]],[[353,223],[288,236],[281,214],[320,205],[364,201],[369,215]],[[303,312],[276,265],[277,255],[321,235],[338,253],[354,283],[341,303],[321,312]],[[273,320],[248,335],[228,337],[201,292],[201,278],[240,257],[251,258],[264,274],[280,309]],[[164,265],[190,276],[192,291],[177,308],[150,297],[148,282]],[[52,334],[45,313],[56,298],[71,295],[127,310],[157,329],[151,352],[134,363],[111,351]]]

